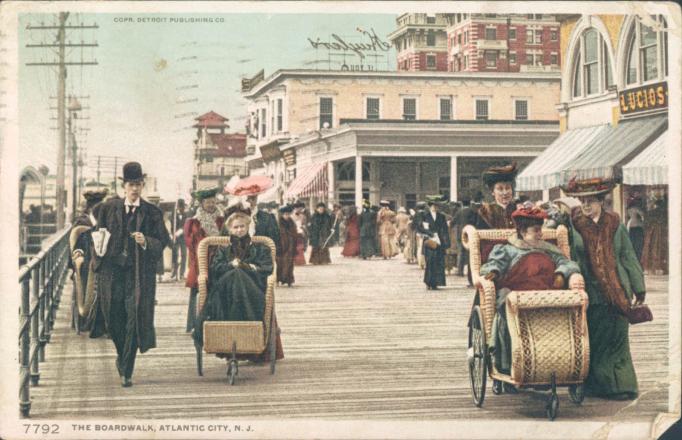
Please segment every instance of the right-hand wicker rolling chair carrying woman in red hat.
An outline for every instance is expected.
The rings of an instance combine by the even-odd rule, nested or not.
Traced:
[[[474,356],[479,355],[485,359],[486,365],[481,367],[482,375],[487,369],[490,377],[496,381],[517,387],[550,385],[552,396],[547,411],[550,419],[553,419],[558,408],[555,391],[557,385],[569,385],[574,402],[580,403],[583,399],[582,387],[579,386],[587,377],[590,358],[586,316],[588,297],[584,290],[509,293],[506,313],[511,336],[511,372],[503,374],[497,371],[487,353],[487,341],[492,337],[496,313],[496,289],[492,281],[480,276],[480,269],[492,248],[496,244],[505,243],[514,234],[514,229],[477,230],[471,225],[462,231],[462,242],[469,250],[472,280],[478,289],[470,325],[474,321],[480,322],[481,334],[474,334],[480,338],[481,348],[474,350],[480,351],[479,354],[474,353]],[[570,257],[568,230],[564,226],[543,229],[542,236],[545,241],[555,244],[565,256]],[[474,314],[478,316],[473,316]],[[471,341],[470,337],[470,346]],[[474,402],[481,406],[485,396],[485,377],[477,379],[479,380],[474,386],[472,373]],[[478,392],[475,388],[478,388]]]

